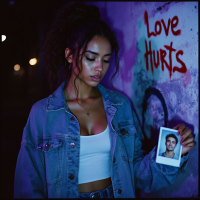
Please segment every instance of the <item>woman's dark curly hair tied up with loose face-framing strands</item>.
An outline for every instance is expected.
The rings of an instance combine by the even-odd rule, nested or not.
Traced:
[[[83,53],[86,51],[87,44],[94,36],[107,38],[111,45],[112,54],[115,55],[116,70],[110,80],[113,88],[112,81],[119,69],[118,52],[120,49],[115,32],[110,29],[106,22],[101,20],[97,6],[75,2],[68,3],[58,10],[43,46],[44,58],[49,71],[48,83],[51,92],[55,79],[58,78],[57,84],[60,82],[59,71],[62,67],[65,69],[63,74],[63,78],[66,80],[65,83],[68,82],[71,76],[70,64],[65,58],[65,49],[68,47],[71,50],[70,55],[72,54],[76,58],[80,74],[81,68],[78,66],[80,51],[83,50]],[[81,61],[83,53],[81,54]]]

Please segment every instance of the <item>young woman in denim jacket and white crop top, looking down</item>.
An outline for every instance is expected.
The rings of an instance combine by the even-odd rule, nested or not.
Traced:
[[[194,138],[184,124],[179,168],[144,155],[141,129],[128,99],[99,83],[119,45],[96,6],[73,3],[54,21],[45,43],[52,74],[66,81],[35,103],[24,128],[15,172],[15,198],[135,197],[173,184]],[[115,75],[114,74],[114,75]],[[53,79],[50,76],[50,81]]]

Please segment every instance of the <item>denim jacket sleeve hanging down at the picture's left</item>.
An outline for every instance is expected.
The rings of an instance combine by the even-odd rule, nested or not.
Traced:
[[[14,179],[14,198],[46,198],[43,152],[31,142],[30,116],[23,131]],[[33,137],[33,136],[32,136]]]

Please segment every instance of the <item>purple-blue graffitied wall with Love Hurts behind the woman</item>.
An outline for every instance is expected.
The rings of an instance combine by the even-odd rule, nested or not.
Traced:
[[[90,2],[88,2],[90,3]],[[159,127],[185,123],[195,135],[186,171],[174,185],[138,197],[198,195],[198,2],[92,2],[121,43],[114,88],[133,104],[144,149],[158,142]],[[108,88],[114,64],[102,80]]]

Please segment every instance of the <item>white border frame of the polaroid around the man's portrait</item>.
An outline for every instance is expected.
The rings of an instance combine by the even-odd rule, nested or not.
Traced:
[[[156,154],[156,163],[164,164],[164,165],[170,165],[174,167],[180,167],[180,162],[181,162],[181,152],[182,152],[182,145],[180,147],[180,152],[179,152],[179,159],[172,159],[172,158],[167,158],[163,156],[159,156],[159,150],[160,150],[160,142],[163,134],[163,130],[176,133],[176,137],[178,138],[178,141],[180,142],[180,135],[177,135],[178,130],[170,129],[170,128],[165,128],[165,127],[160,127],[160,133],[159,133],[159,141],[158,141],[158,148],[157,148],[157,154]]]

